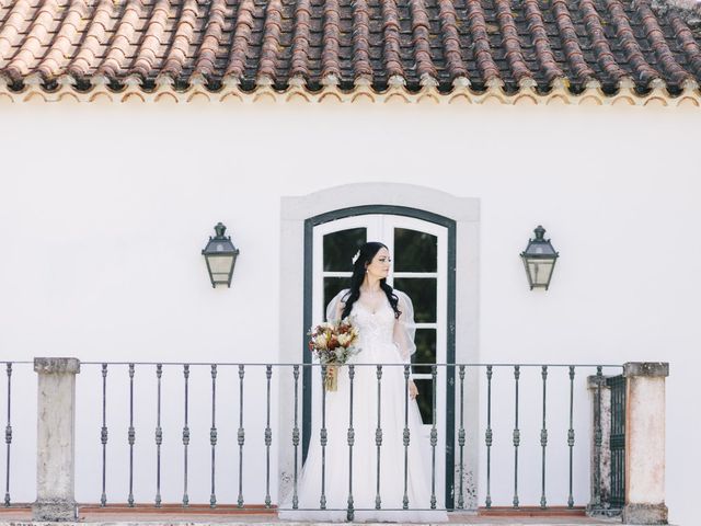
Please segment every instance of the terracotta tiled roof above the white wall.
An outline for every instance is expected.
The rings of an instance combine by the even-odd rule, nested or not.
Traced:
[[[21,90],[68,75],[78,89],[129,77],[175,89],[228,77],[245,90],[298,77],[311,90],[334,78],[350,89],[400,82],[439,91],[525,80],[548,91],[556,79],[622,79],[639,91],[662,79],[679,92],[701,83],[701,41],[683,16],[651,0],[16,0],[0,5],[0,80]],[[399,80],[397,80],[399,79]],[[659,82],[659,81],[657,81]],[[558,84],[562,85],[562,83]],[[655,84],[657,85],[657,84]]]

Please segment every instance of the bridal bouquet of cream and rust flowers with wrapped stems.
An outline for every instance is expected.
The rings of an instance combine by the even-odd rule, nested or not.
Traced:
[[[326,366],[324,388],[327,391],[338,389],[338,367],[359,353],[354,344],[358,339],[358,330],[348,318],[337,322],[324,322],[308,333],[311,336],[309,350]]]

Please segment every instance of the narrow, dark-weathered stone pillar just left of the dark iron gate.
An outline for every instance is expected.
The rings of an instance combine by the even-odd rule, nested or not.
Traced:
[[[590,498],[587,515],[607,514],[611,495],[611,389],[606,376],[587,377],[591,400]]]

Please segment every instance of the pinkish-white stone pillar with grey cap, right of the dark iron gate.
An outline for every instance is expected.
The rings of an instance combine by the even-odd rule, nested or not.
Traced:
[[[667,524],[665,378],[667,363],[628,363],[624,524]]]

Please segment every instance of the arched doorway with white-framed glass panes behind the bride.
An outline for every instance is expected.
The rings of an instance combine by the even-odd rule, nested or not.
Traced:
[[[345,208],[307,219],[304,224],[304,323],[303,330],[323,321],[330,299],[347,285],[350,256],[361,243],[381,241],[388,245],[393,272],[388,282],[409,294],[417,322],[415,364],[455,363],[455,221],[409,207],[371,205]],[[303,350],[304,363],[311,362]],[[436,488],[440,502],[452,507],[455,464],[455,368],[413,366],[413,377],[424,422],[420,439],[428,441],[435,425]],[[311,370],[303,375],[302,449],[309,446],[312,392],[319,389]],[[435,384],[435,385],[434,385]],[[447,467],[450,467],[447,469]]]

